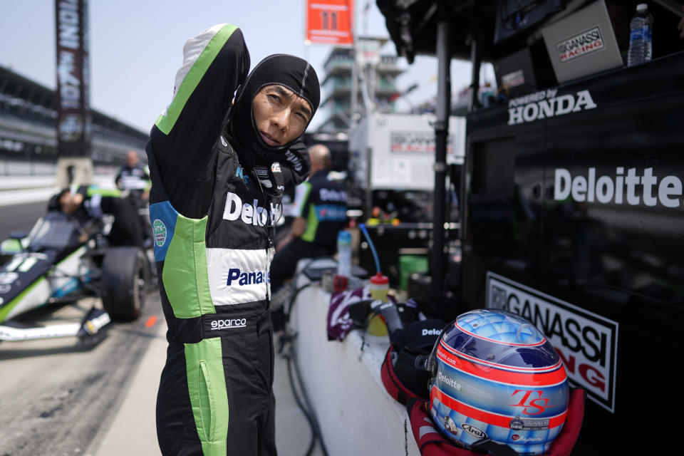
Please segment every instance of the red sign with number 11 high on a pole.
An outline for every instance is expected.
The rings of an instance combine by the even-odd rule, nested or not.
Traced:
[[[306,0],[306,39],[335,46],[354,43],[354,0]]]

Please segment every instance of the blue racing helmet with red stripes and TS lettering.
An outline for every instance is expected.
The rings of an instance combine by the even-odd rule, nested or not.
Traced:
[[[430,415],[457,445],[481,440],[541,455],[568,410],[558,353],[530,321],[499,309],[467,312],[448,324],[427,359]]]

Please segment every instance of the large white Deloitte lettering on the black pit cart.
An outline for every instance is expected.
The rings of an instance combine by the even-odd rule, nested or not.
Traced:
[[[565,168],[556,168],[554,176],[554,199],[561,201],[572,197],[576,202],[600,202],[629,204],[636,206],[646,204],[664,207],[680,207],[682,204],[682,181],[677,176],[665,176],[660,179],[653,175],[653,167],[648,167],[641,175],[636,168],[624,167],[615,169],[615,176],[596,177],[596,168],[589,168],[584,175],[572,176]],[[641,187],[641,195],[638,192]]]

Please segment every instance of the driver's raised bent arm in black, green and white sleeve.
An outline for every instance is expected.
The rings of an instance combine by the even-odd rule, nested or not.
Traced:
[[[171,103],[157,118],[146,148],[172,204],[181,199],[176,192],[202,193],[203,185],[213,185],[214,144],[248,71],[249,51],[237,26],[219,24],[185,43]],[[192,207],[176,209],[192,215]]]

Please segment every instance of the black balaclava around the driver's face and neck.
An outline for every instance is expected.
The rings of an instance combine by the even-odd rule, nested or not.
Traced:
[[[257,130],[252,110],[254,96],[264,86],[273,84],[289,88],[296,95],[304,98],[311,105],[311,118],[314,117],[321,100],[321,88],[316,71],[302,58],[287,54],[274,54],[264,58],[254,67],[235,95],[235,103],[230,113],[229,134],[242,148],[268,161],[277,160],[279,155],[296,141],[273,147],[261,139]]]

